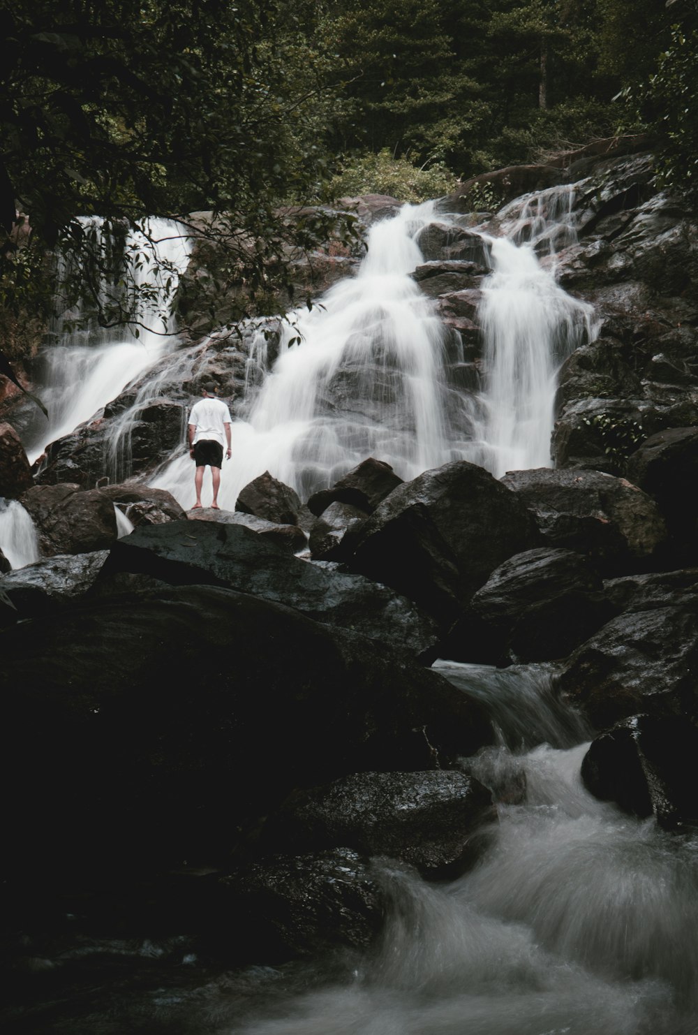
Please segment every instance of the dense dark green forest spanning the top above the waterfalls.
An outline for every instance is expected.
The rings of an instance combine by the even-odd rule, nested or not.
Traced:
[[[695,0],[0,0],[0,10],[5,313],[49,303],[47,246],[78,257],[75,291],[96,284],[107,258],[79,215],[123,236],[149,213],[224,213],[225,275],[254,296],[283,277],[294,246],[329,232],[329,211],[290,218],[298,203],[367,190],[418,200],[642,126],[668,184],[698,177]],[[118,293],[100,307],[104,323],[123,318]]]

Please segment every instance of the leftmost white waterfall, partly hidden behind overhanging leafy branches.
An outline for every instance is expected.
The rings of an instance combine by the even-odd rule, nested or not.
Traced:
[[[98,220],[94,230],[99,233]],[[169,219],[150,219],[144,230],[126,241],[125,261],[133,282],[131,324],[96,327],[84,322],[79,306],[56,324],[56,344],[39,355],[36,390],[49,410],[49,423],[29,407],[18,420],[30,463],[51,442],[93,417],[172,348],[173,320],[163,313],[169,313],[178,273],[186,268],[190,244],[181,227]],[[65,275],[64,264],[61,269]],[[59,324],[66,317],[75,329],[63,332]]]

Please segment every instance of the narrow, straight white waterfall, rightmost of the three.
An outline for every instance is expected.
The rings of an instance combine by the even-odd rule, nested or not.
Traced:
[[[486,237],[493,271],[483,284],[479,320],[485,388],[474,418],[474,459],[496,477],[551,467],[557,371],[596,336],[594,309],[555,282],[556,249],[576,241],[574,189],[553,187],[499,213],[503,237]],[[541,265],[538,256],[552,263]]]

